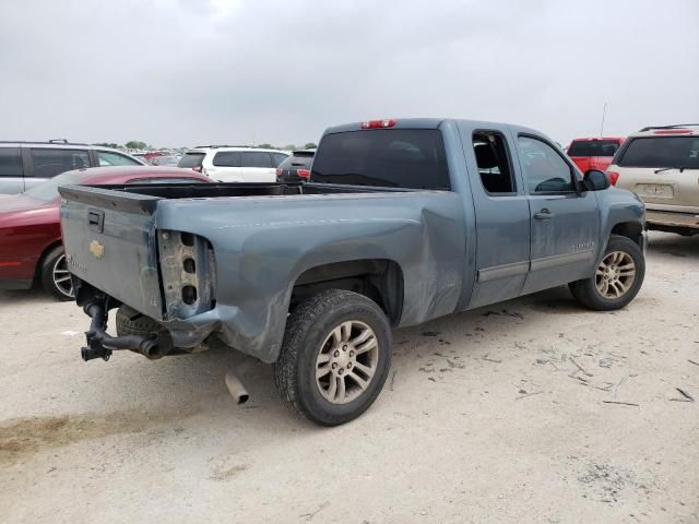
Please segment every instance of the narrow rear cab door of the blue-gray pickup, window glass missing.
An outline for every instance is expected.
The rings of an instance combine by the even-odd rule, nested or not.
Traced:
[[[529,271],[529,203],[507,129],[461,129],[476,216],[476,281],[469,308],[517,297]]]

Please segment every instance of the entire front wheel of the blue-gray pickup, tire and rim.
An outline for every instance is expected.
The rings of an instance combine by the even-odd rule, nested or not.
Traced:
[[[627,237],[612,235],[594,276],[571,283],[570,291],[595,311],[621,309],[638,295],[644,276],[641,248]]]

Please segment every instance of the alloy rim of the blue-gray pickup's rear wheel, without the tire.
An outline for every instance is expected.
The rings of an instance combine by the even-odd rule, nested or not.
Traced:
[[[369,386],[379,362],[379,341],[364,322],[335,326],[316,357],[316,385],[324,400],[347,404]]]

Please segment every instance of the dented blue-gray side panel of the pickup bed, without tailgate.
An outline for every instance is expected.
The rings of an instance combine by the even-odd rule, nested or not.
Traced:
[[[405,282],[400,325],[451,313],[462,290],[462,215],[460,196],[447,191],[161,201],[161,231],[205,238],[215,274],[212,310],[180,306],[177,311],[194,314],[163,323],[177,346],[193,347],[213,331],[225,344],[274,361],[301,275],[360,260],[388,260],[400,267]],[[182,284],[178,263],[174,287]]]

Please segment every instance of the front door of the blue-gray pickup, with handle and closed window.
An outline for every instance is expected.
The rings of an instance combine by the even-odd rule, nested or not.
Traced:
[[[517,146],[531,224],[531,267],[523,293],[592,276],[600,248],[595,193],[579,191],[572,164],[541,136],[520,133]]]

